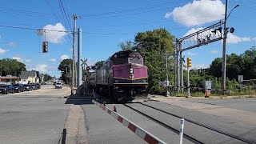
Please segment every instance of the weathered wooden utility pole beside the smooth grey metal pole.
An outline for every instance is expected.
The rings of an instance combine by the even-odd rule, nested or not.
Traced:
[[[76,24],[77,24],[77,19],[78,19],[78,15],[77,14],[73,14],[73,18],[74,18],[74,29],[73,29],[73,66],[72,66],[72,86],[71,86],[71,94],[74,94],[74,82],[75,82],[75,78],[74,78],[74,74],[75,74],[75,29],[76,29]]]

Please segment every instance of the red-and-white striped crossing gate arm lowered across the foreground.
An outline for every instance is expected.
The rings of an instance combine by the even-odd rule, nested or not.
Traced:
[[[132,130],[135,134],[137,134],[140,138],[142,138],[144,141],[150,143],[150,144],[166,144],[166,142],[163,142],[161,139],[155,137],[153,134],[150,134],[148,131],[142,129],[141,127],[134,124],[134,122],[130,122],[130,120],[124,118],[120,114],[114,112],[113,110],[110,110],[106,106],[92,100],[92,102],[102,108],[102,110],[106,111],[106,113],[110,114],[112,117],[114,117],[118,122],[121,122],[124,126],[126,126],[128,129]]]

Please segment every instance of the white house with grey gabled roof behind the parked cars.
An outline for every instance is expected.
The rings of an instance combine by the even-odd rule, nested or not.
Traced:
[[[35,70],[31,71],[22,71],[22,74],[19,77],[20,83],[39,83],[39,78],[37,77],[37,72]]]

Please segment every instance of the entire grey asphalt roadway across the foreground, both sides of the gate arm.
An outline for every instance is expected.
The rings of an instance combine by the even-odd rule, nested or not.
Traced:
[[[0,94],[1,143],[146,143],[93,98],[70,96],[70,88]],[[256,98],[168,99],[115,103],[96,94],[98,102],[166,143],[178,143],[180,118],[185,118],[183,143],[256,143]],[[66,134],[62,131],[66,130]]]

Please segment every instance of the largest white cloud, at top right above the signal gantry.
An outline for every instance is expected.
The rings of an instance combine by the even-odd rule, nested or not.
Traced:
[[[225,5],[221,0],[194,0],[184,6],[175,7],[168,12],[165,18],[174,18],[184,26],[202,25],[206,22],[214,22],[223,18]]]

